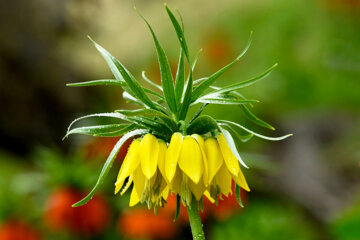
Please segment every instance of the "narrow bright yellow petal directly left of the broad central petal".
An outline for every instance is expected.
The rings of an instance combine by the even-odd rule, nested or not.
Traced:
[[[181,133],[177,132],[171,136],[170,144],[166,150],[165,156],[165,175],[168,182],[172,182],[175,176],[176,165],[180,157],[182,143],[183,136]]]

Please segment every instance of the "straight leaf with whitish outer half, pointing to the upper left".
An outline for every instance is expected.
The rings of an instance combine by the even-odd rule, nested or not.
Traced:
[[[90,37],[89,37],[90,38]],[[96,49],[104,56],[106,61],[111,61],[111,70],[113,73],[115,72],[115,78],[120,81],[125,81],[127,87],[124,88],[125,91],[129,92],[134,97],[138,98],[141,102],[143,102],[146,106],[150,108],[156,108],[154,103],[150,100],[150,98],[146,95],[144,89],[140,86],[134,76],[117,60],[114,58],[108,51],[106,51],[102,46],[97,44],[94,40],[90,38],[90,40],[94,43]],[[110,65],[109,65],[110,66]],[[116,68],[115,71],[113,68]]]

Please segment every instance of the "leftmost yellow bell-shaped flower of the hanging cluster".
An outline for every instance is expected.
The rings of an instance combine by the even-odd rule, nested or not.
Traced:
[[[122,189],[123,195],[133,183],[130,206],[139,202],[146,202],[149,208],[163,206],[169,194],[169,186],[163,177],[166,150],[166,143],[151,134],[141,140],[135,139],[121,165],[115,194]]]

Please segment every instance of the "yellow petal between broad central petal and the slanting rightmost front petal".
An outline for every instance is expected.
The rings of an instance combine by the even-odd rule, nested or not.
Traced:
[[[208,183],[210,184],[216,173],[219,171],[223,164],[223,156],[219,144],[214,138],[208,138],[205,141],[206,156],[208,160],[209,177]]]

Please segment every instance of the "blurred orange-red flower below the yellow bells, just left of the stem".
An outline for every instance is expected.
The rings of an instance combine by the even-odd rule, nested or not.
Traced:
[[[135,209],[121,215],[118,229],[124,236],[146,239],[172,239],[177,232],[173,218],[163,212],[156,216],[148,209]]]

